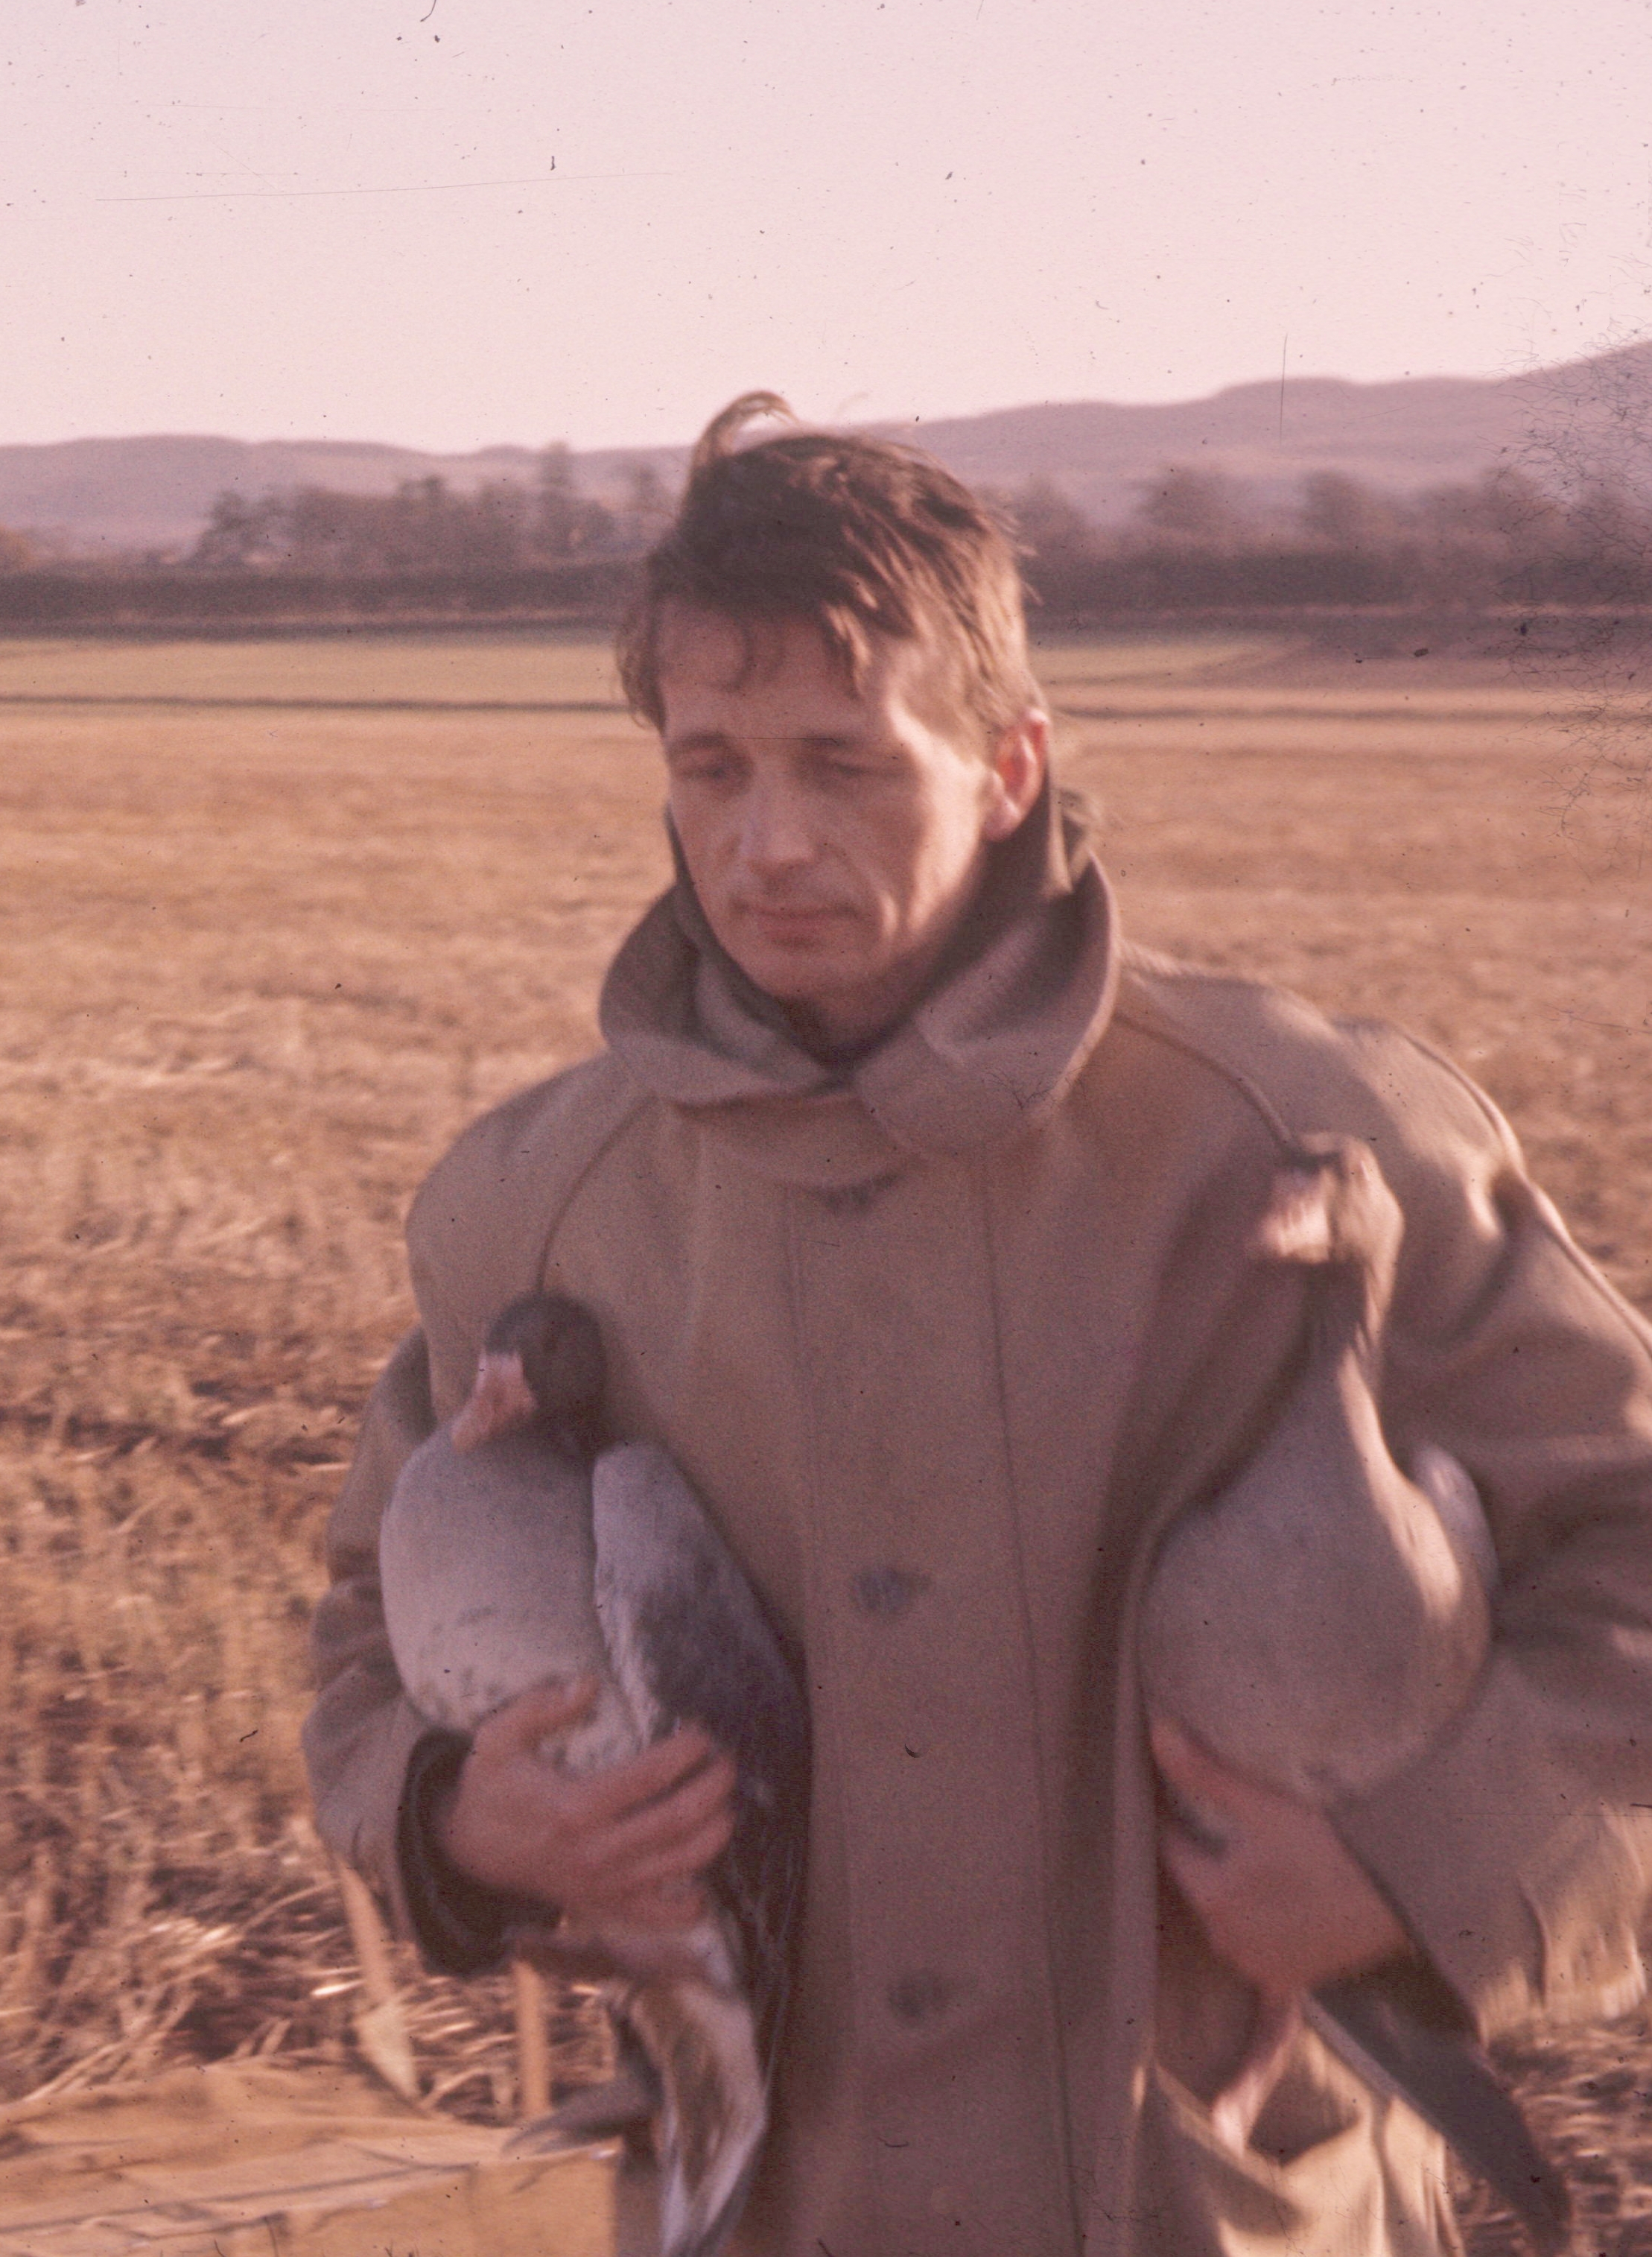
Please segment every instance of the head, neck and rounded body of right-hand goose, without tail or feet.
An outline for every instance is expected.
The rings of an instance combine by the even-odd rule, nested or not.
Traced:
[[[1377,1415],[1401,1217],[1370,1151],[1284,1171],[1257,1253],[1313,1268],[1302,1375],[1262,1449],[1165,1542],[1142,1616],[1149,1709],[1237,1772],[1329,1803],[1417,1756],[1490,1645],[1496,1575],[1467,1474],[1411,1474]]]

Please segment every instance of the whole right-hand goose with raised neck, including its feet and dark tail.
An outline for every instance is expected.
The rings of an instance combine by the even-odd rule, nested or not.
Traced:
[[[1356,1138],[1304,1138],[1253,1237],[1309,1271],[1307,1352],[1234,1481],[1183,1514],[1151,1566],[1142,1693],[1230,1769],[1327,1808],[1395,1776],[1462,1709],[1492,1641],[1496,1551],[1469,1474],[1424,1442],[1401,1472],[1377,1413],[1404,1217]],[[1223,1828],[1167,1788],[1210,1851]],[[1478,2052],[1377,1982],[1327,1984],[1264,2013],[1212,2104],[1244,2146],[1304,2018],[1379,2092],[1422,2113],[1517,2210],[1566,2241],[1564,2180]]]

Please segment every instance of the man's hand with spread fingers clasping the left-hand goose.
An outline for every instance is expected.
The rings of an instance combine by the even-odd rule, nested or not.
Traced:
[[[575,1779],[539,1742],[575,1724],[596,1679],[537,1686],[476,1731],[438,1817],[451,1864],[490,1889],[539,1896],[575,1921],[688,1927],[700,1876],[733,1830],[733,1765],[684,1724],[612,1772]]]

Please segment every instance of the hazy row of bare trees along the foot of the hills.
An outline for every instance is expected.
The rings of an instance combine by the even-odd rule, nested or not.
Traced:
[[[1652,490],[1634,467],[1614,481],[1544,483],[1499,467],[1395,494],[1313,472],[1286,499],[1225,472],[1169,463],[1122,524],[1090,519],[1049,478],[995,494],[1045,618],[1115,612],[1300,607],[1652,605]],[[614,501],[580,492],[566,447],[546,447],[533,483],[458,490],[415,478],[393,494],[320,485],[246,499],[223,492],[187,555],[93,573],[34,555],[0,528],[0,616],[29,614],[23,580],[68,582],[65,616],[90,616],[113,580],[138,612],[183,616],[320,612],[359,603],[478,616],[490,607],[623,600],[630,562],[670,521],[675,497],[650,463]],[[165,585],[162,585],[165,582]],[[192,594],[194,589],[194,594]],[[47,591],[41,591],[47,600]],[[20,609],[20,605],[25,605]],[[90,605],[90,612],[88,612]],[[47,603],[50,609],[50,603]]]

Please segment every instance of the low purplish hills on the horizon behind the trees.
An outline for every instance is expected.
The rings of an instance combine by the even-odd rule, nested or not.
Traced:
[[[1530,460],[1541,472],[1557,449],[1587,458],[1620,442],[1625,399],[1634,404],[1632,436],[1652,454],[1652,343],[1503,379],[1293,377],[1284,386],[1234,384],[1210,399],[1043,402],[878,429],[916,440],[975,485],[1013,490],[1049,478],[1086,515],[1110,524],[1167,463],[1223,469],[1266,494],[1289,492],[1313,469],[1347,472],[1390,492],[1474,478],[1505,460]],[[605,501],[621,499],[636,463],[675,481],[686,447],[575,456],[582,488]],[[381,494],[404,478],[474,488],[487,478],[526,483],[533,474],[530,447],[445,456],[370,440],[79,438],[0,447],[0,526],[32,528],[77,551],[176,551],[194,539],[226,488],[248,499],[293,485]]]

